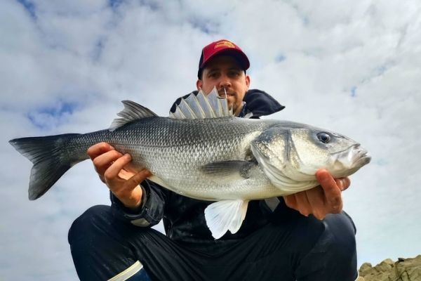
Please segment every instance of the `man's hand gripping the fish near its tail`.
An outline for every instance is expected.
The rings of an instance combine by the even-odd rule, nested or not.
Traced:
[[[152,174],[147,169],[129,171],[131,155],[122,155],[108,143],[97,143],[88,148],[89,157],[98,176],[124,206],[136,209],[142,204],[140,183]]]

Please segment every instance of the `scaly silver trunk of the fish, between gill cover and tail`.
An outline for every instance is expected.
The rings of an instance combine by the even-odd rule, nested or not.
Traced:
[[[105,141],[129,153],[152,181],[180,195],[199,200],[253,200],[282,195],[258,166],[251,143],[274,122],[222,117],[170,119],[150,117],[116,131],[98,131],[74,138],[85,152]],[[82,156],[82,155],[81,155]]]

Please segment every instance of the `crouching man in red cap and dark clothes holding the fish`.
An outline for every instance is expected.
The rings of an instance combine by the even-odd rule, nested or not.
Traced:
[[[239,46],[215,41],[203,48],[196,87],[216,87],[239,117],[282,110],[267,93],[248,90],[249,65]],[[88,209],[69,230],[81,280],[356,279],[355,228],[342,212],[348,178],[320,170],[316,188],[251,201],[238,233],[214,240],[203,216],[211,202],[161,188],[147,180],[149,171],[130,171],[131,156],[107,143],[88,155],[111,190],[112,207]],[[150,228],[161,218],[166,235]]]

